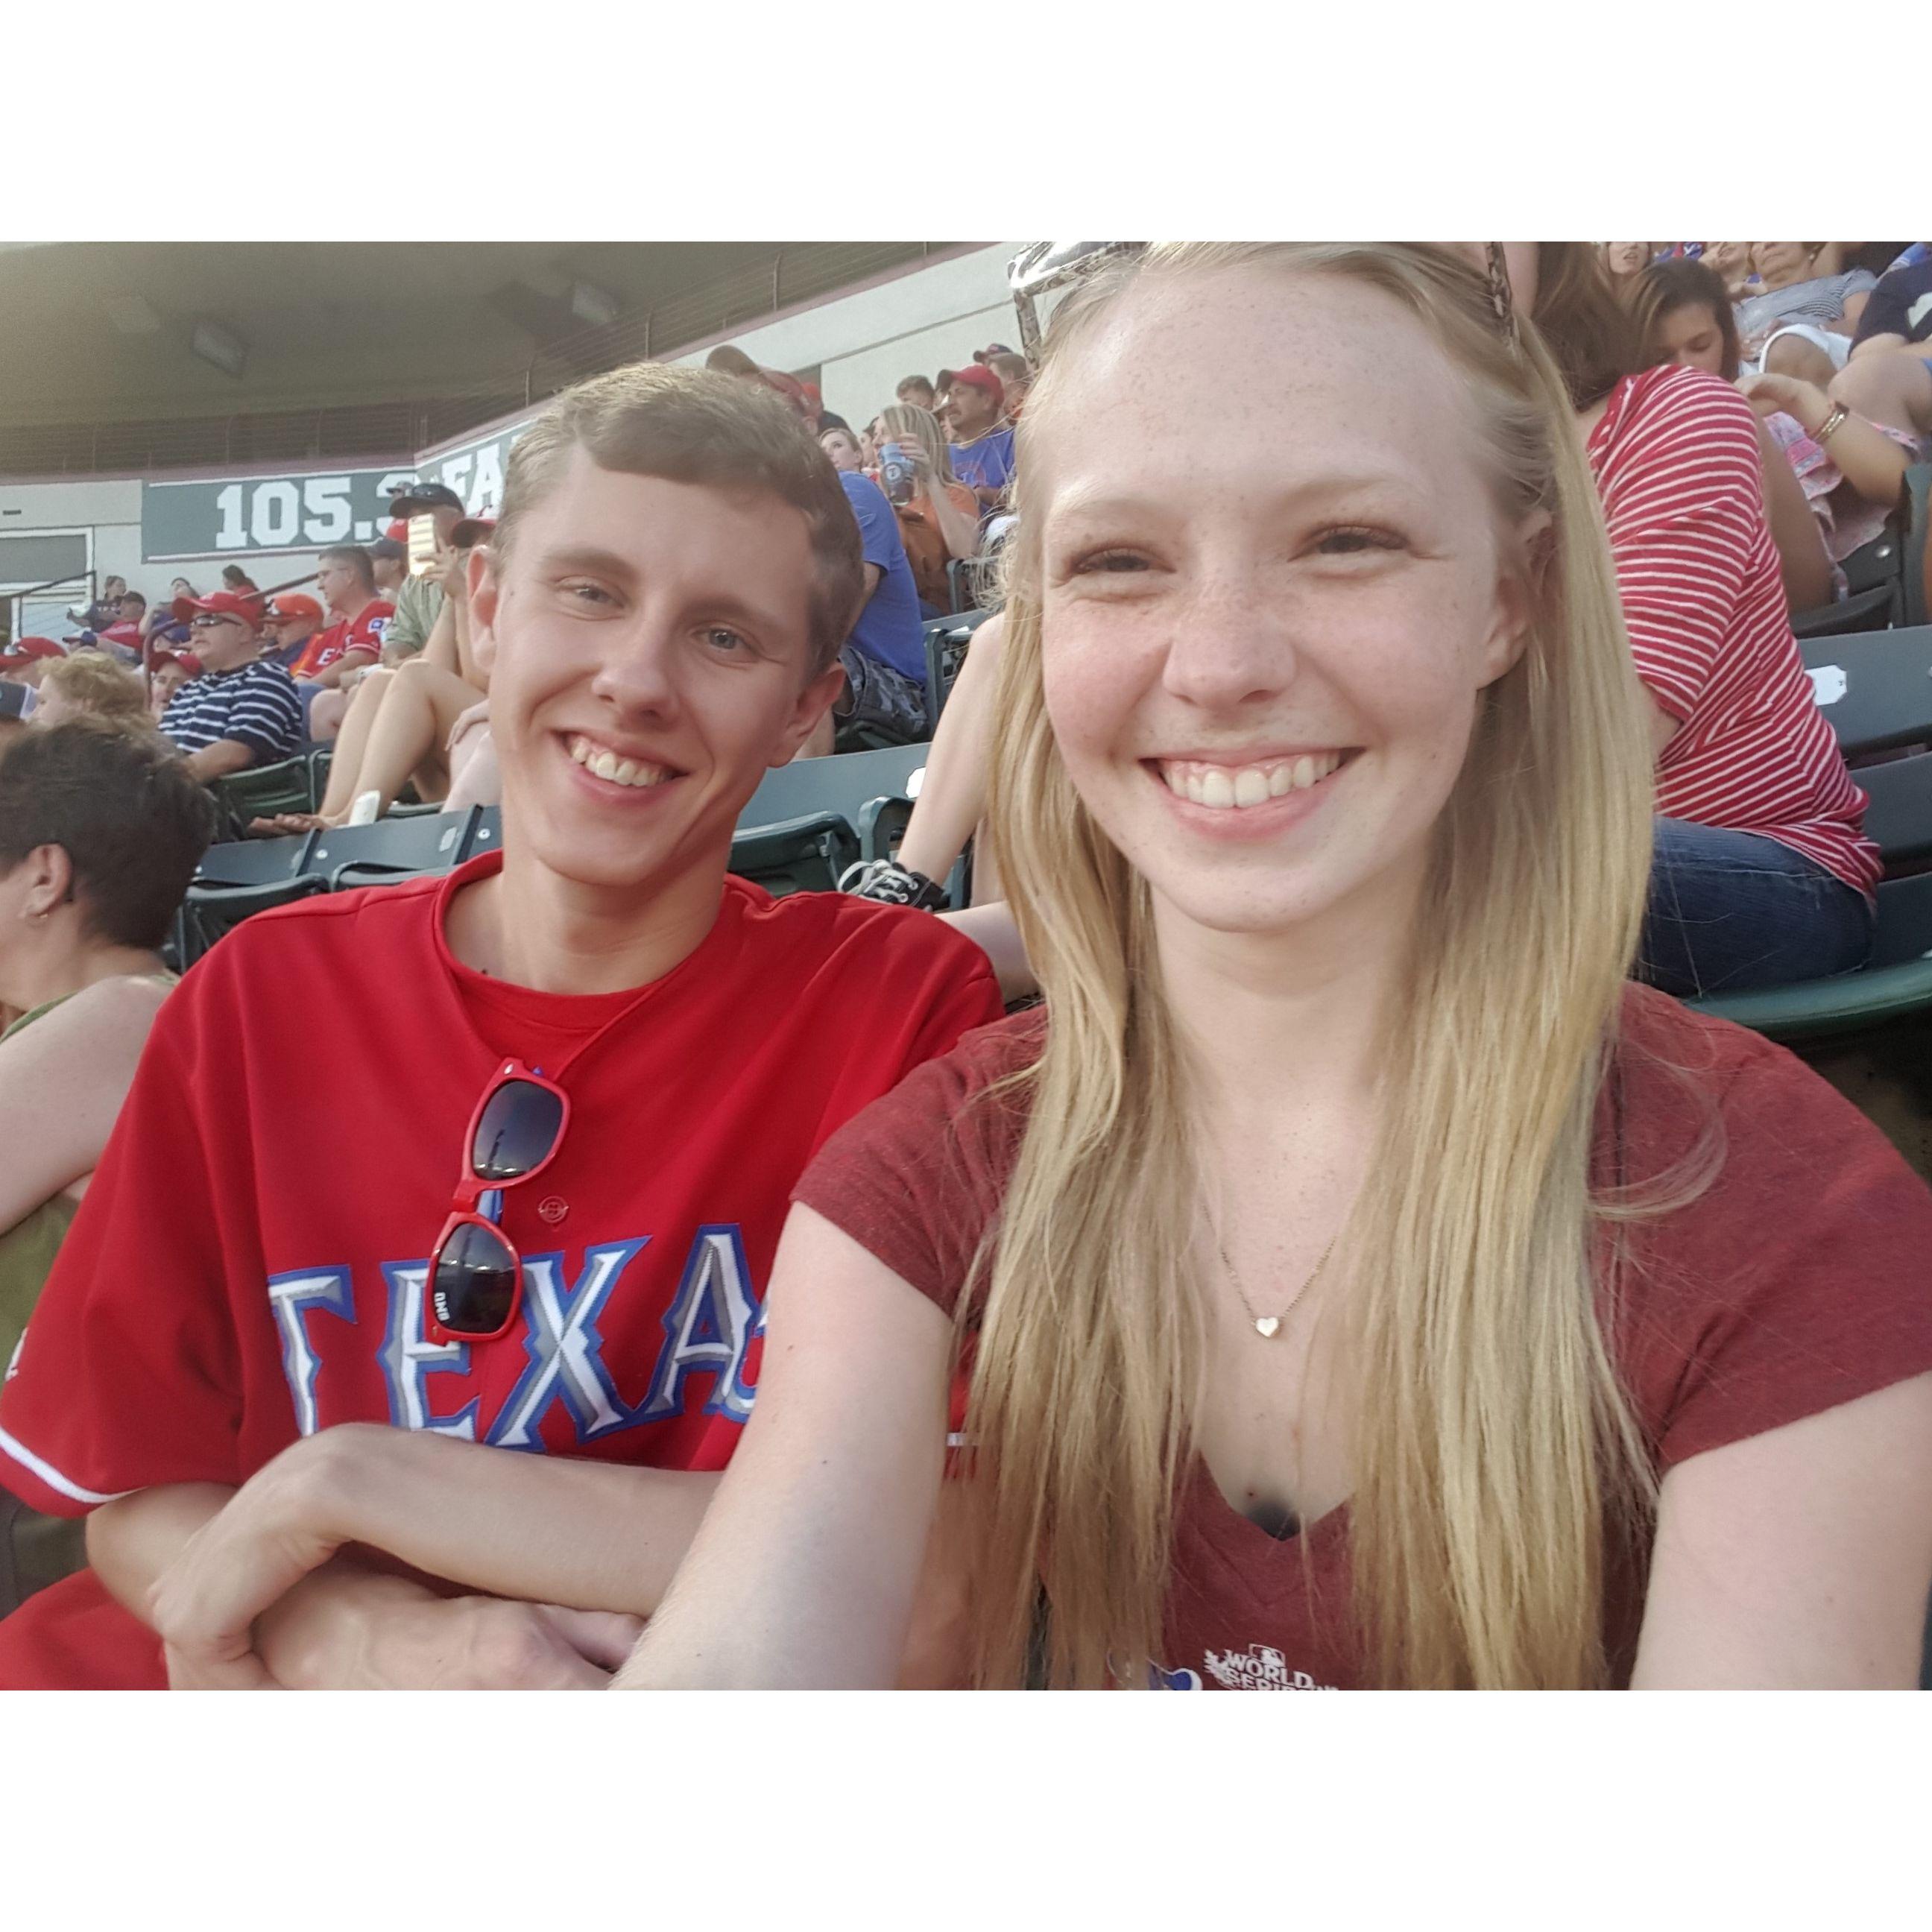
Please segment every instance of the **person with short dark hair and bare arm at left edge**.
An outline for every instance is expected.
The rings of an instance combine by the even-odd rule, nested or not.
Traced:
[[[0,1036],[0,1362],[174,985],[160,945],[213,833],[209,794],[151,732],[73,721],[0,759],[0,1007],[19,1012]],[[0,1604],[79,1569],[73,1532],[0,1497]]]

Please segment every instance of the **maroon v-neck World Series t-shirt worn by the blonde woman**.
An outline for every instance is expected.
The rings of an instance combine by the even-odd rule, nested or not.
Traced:
[[[1026,1126],[1022,1099],[968,1101],[1030,1065],[1043,1037],[1039,1010],[968,1034],[840,1128],[794,1200],[951,1310]],[[1609,1329],[1660,1474],[1932,1370],[1932,1192],[1783,1047],[1631,987],[1600,1179],[1613,1179],[1619,1150],[1625,1182],[1665,1173],[1712,1107],[1723,1169],[1687,1208],[1631,1229]],[[1642,1578],[1615,1567],[1611,1577],[1604,1627],[1623,1683]],[[1163,1665],[1177,1690],[1364,1687],[1347,1505],[1277,1542],[1196,1463],[1175,1532]]]

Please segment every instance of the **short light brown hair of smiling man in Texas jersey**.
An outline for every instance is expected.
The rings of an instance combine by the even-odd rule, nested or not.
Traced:
[[[811,543],[808,634],[813,676],[831,668],[866,593],[858,520],[838,471],[798,413],[765,384],[711,369],[632,363],[564,390],[524,431],[502,483],[491,549],[556,485],[570,452],[601,469],[717,491],[759,491],[798,510]]]

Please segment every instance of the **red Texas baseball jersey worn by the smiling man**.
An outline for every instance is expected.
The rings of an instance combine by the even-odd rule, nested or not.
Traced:
[[[763,1289],[819,1144],[999,1016],[985,956],[925,914],[724,885],[667,978],[533,993],[458,964],[442,881],[249,920],[166,1003],[0,1393],[0,1482],[77,1515],[240,1484],[298,1435],[390,1422],[504,1449],[721,1468]],[[572,1117],[504,1192],[524,1310],[431,1345],[423,1277],[497,1066]],[[158,1685],[93,1573],[0,1623],[0,1685]]]

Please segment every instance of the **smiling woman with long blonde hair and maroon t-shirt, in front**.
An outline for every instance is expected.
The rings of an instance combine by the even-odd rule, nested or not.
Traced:
[[[1047,1005],[808,1171],[626,1683],[891,1683],[943,1488],[985,1685],[1917,1677],[1932,1198],[1625,980],[1646,701],[1507,292],[1163,247],[1055,317],[993,761]]]

